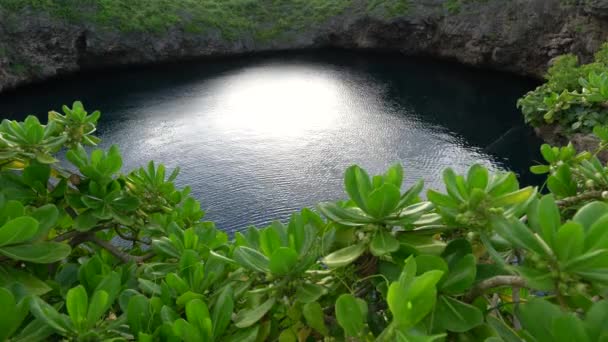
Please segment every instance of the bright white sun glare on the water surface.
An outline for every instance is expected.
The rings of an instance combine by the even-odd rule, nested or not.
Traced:
[[[301,137],[333,126],[340,116],[340,86],[335,78],[298,67],[255,68],[239,72],[218,89],[222,115],[214,124],[222,131]],[[289,108],[289,110],[286,110]]]

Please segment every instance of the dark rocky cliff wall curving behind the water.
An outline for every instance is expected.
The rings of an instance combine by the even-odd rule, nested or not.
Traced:
[[[395,50],[540,77],[553,57],[588,60],[608,40],[607,0],[564,2],[467,0],[454,10],[446,0],[410,0],[407,11],[387,16],[353,0],[323,22],[271,39],[247,30],[227,39],[218,29],[197,33],[178,25],[124,32],[40,9],[0,7],[0,91],[87,68],[315,47]]]

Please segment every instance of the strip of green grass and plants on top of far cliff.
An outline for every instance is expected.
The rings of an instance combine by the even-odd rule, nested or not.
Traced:
[[[445,0],[448,13],[485,0]],[[160,34],[177,28],[191,33],[217,30],[226,39],[290,37],[345,11],[392,19],[410,12],[416,0],[0,0],[6,13],[49,13],[101,29]]]

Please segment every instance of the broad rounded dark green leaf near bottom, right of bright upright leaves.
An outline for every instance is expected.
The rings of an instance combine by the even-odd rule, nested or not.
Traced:
[[[439,330],[463,333],[483,323],[481,310],[448,296],[439,296],[433,326]]]

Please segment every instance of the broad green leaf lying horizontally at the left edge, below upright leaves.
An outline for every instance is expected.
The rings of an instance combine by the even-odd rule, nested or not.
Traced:
[[[30,245],[0,248],[0,254],[4,254],[9,258],[38,264],[50,264],[61,261],[67,258],[71,252],[72,249],[69,245],[59,242],[37,242]]]

